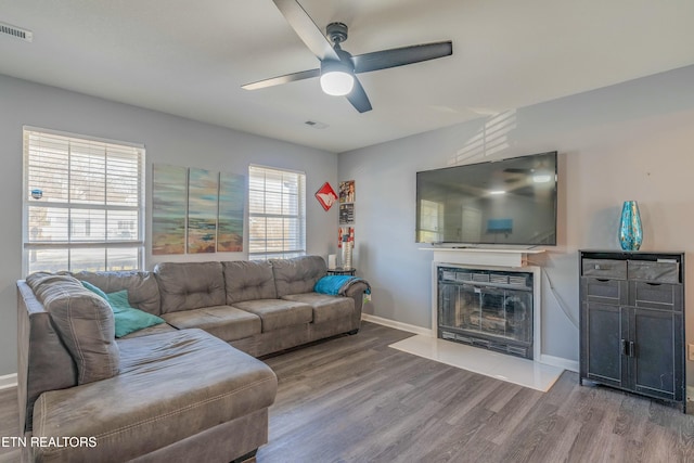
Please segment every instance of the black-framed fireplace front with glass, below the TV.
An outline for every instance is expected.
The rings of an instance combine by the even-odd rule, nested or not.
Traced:
[[[532,279],[438,267],[438,337],[532,359]]]

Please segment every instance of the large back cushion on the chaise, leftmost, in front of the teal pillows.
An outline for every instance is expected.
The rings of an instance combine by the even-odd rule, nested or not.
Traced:
[[[77,384],[115,376],[120,356],[108,304],[75,278],[34,273],[26,278],[77,365]]]

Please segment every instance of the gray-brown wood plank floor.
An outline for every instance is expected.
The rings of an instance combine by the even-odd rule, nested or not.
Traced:
[[[265,359],[280,387],[257,462],[694,462],[694,416],[674,407],[571,372],[540,393],[387,347],[409,336],[362,323]],[[17,435],[14,394],[0,391],[2,436]]]

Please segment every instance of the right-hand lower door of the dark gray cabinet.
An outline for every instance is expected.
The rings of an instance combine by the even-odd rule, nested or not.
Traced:
[[[641,394],[669,400],[682,400],[681,314],[669,310],[631,307],[629,326],[633,349],[630,351],[627,385]]]

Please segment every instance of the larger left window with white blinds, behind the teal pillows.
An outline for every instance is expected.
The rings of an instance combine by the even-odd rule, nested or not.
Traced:
[[[143,177],[142,145],[25,127],[25,274],[141,269]]]

